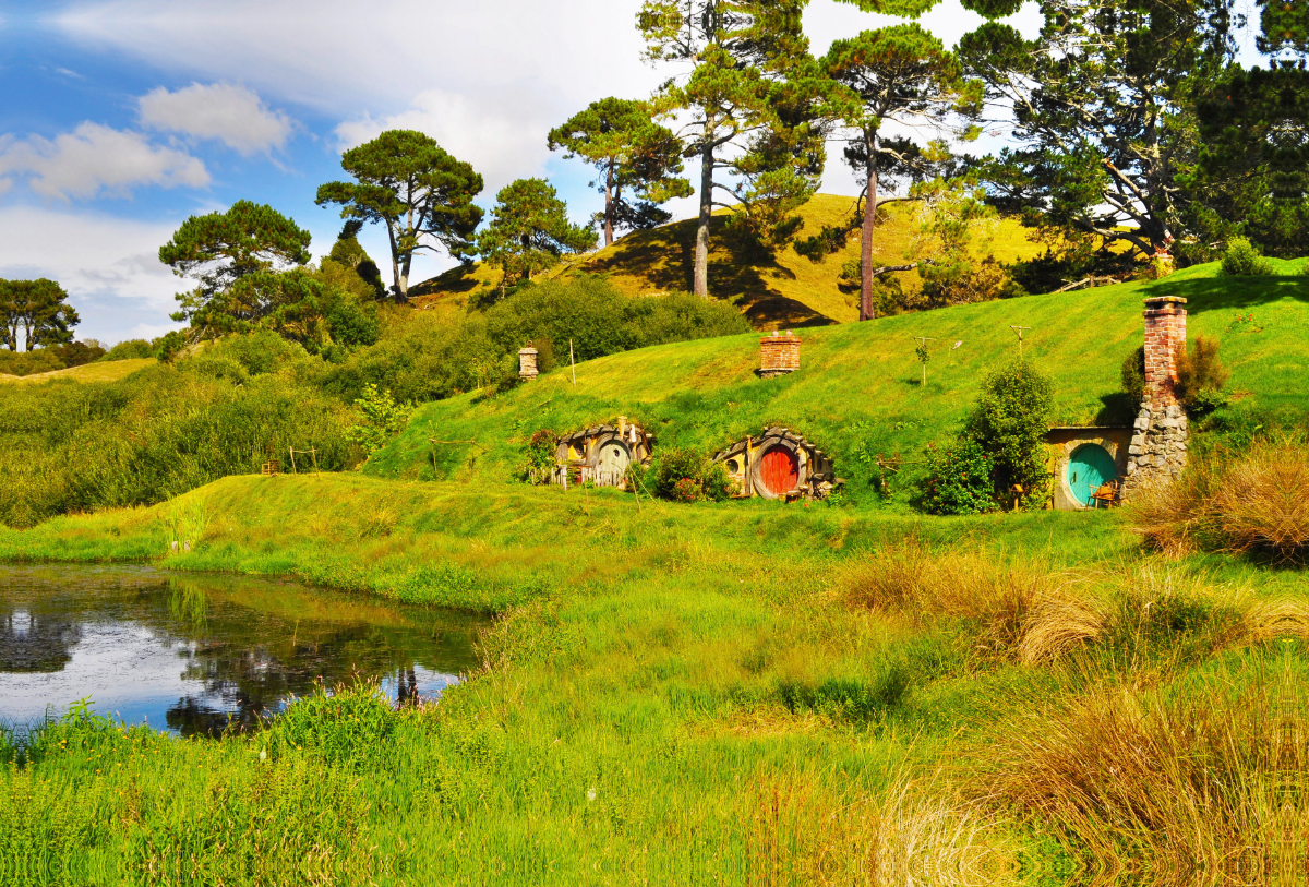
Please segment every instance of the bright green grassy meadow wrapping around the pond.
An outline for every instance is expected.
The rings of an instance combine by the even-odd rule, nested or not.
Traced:
[[[484,670],[424,712],[355,693],[221,742],[52,727],[0,768],[0,865],[27,883],[1051,883],[1076,841],[986,802],[987,750],[1049,703],[1276,655],[1230,629],[1229,593],[1272,594],[1264,568],[1156,561],[1117,513],[637,512],[613,491],[242,476],[0,531],[0,559],[160,557],[178,534],[198,543],[179,570],[499,612]],[[973,557],[975,591],[860,591],[899,582],[907,539]],[[1028,576],[1107,602],[1102,640],[1029,665],[996,646]],[[1301,573],[1276,580],[1309,600]]]

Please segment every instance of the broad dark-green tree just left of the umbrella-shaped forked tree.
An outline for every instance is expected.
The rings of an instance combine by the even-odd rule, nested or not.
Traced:
[[[160,262],[199,285],[178,293],[174,321],[187,321],[200,335],[223,330],[228,292],[243,277],[284,271],[309,262],[309,232],[272,207],[238,200],[226,212],[191,216],[160,247]],[[229,318],[237,319],[241,318]]]

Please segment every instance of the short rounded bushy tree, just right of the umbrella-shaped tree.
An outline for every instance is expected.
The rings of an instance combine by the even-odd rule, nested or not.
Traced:
[[[545,179],[518,179],[500,188],[491,224],[478,235],[487,264],[501,268],[505,287],[554,267],[559,256],[596,246],[596,233],[568,221],[568,207]]]

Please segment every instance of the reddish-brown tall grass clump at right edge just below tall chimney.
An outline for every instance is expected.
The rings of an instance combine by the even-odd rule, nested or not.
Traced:
[[[1128,514],[1147,544],[1173,556],[1216,549],[1302,563],[1309,453],[1300,441],[1279,441],[1241,457],[1210,454],[1175,483],[1143,489]]]

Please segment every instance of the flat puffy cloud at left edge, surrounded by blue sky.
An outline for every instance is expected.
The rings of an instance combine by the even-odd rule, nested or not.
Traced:
[[[185,150],[152,145],[139,132],[82,123],[51,139],[29,136],[0,144],[0,175],[29,177],[46,198],[128,196],[140,184],[204,187],[209,173]]]

